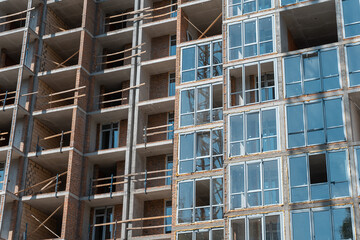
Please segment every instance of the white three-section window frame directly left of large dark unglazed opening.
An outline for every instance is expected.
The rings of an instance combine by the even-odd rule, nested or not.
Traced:
[[[260,19],[264,19],[264,18],[271,18],[271,24],[272,24],[272,29],[271,29],[271,33],[272,33],[272,47],[273,47],[273,51],[271,53],[275,53],[276,52],[276,46],[275,46],[275,41],[276,41],[276,35],[275,35],[275,22],[274,22],[274,15],[268,15],[268,16],[263,16],[263,17],[257,17],[257,18],[251,18],[251,19],[247,19],[247,20],[243,20],[243,21],[238,21],[238,22],[232,22],[229,23],[227,25],[227,48],[226,48],[226,53],[227,53],[227,60],[228,61],[237,61],[240,59],[246,59],[246,58],[251,58],[251,57],[256,57],[256,56],[262,56],[262,55],[266,55],[266,54],[271,54],[271,53],[265,53],[265,54],[260,54],[260,43],[264,43],[264,42],[260,42],[259,40],[259,20]],[[256,31],[256,46],[257,46],[257,54],[254,56],[244,56],[245,53],[245,23],[248,22],[253,22],[255,21],[255,31]],[[230,26],[232,25],[236,25],[236,24],[241,24],[241,46],[236,46],[233,48],[241,48],[242,50],[242,54],[239,58],[237,59],[231,59],[230,60]],[[267,40],[265,42],[270,42],[270,40]],[[252,44],[247,44],[247,45],[254,45],[254,43]]]

